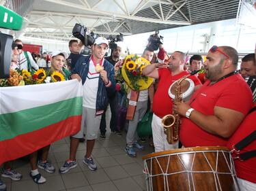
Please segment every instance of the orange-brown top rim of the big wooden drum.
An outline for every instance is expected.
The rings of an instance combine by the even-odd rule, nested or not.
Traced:
[[[217,150],[223,150],[225,152],[229,152],[229,149],[227,147],[220,147],[220,146],[209,146],[209,147],[186,147],[182,149],[177,150],[167,150],[162,152],[153,152],[152,154],[147,154],[142,157],[143,160],[150,159],[152,157],[156,156],[165,156],[168,154],[177,154],[182,152],[200,152],[200,151],[217,151]]]

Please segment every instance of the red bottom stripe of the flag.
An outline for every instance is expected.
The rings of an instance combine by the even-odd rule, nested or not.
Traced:
[[[0,142],[0,164],[20,158],[46,145],[74,135],[81,129],[82,116],[72,116],[37,131],[18,135]]]

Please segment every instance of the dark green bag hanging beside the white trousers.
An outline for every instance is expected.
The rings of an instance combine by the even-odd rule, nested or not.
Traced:
[[[147,137],[152,135],[152,111],[148,110],[141,121],[137,125],[137,133],[139,137]]]

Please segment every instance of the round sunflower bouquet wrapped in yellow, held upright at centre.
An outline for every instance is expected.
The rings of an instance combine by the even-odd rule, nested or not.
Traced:
[[[122,77],[132,90],[145,90],[152,84],[153,78],[142,74],[142,70],[147,65],[150,65],[150,62],[136,54],[128,55],[124,59]]]

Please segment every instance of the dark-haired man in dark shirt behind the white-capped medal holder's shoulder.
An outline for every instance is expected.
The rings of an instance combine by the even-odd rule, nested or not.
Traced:
[[[81,51],[81,45],[79,44],[79,42],[75,39],[72,39],[69,41],[68,43],[68,47],[70,48],[70,56],[68,56],[68,61],[69,61],[69,68],[70,70],[72,70],[74,68],[74,66],[76,65],[76,61],[83,56],[82,54],[80,54]]]

